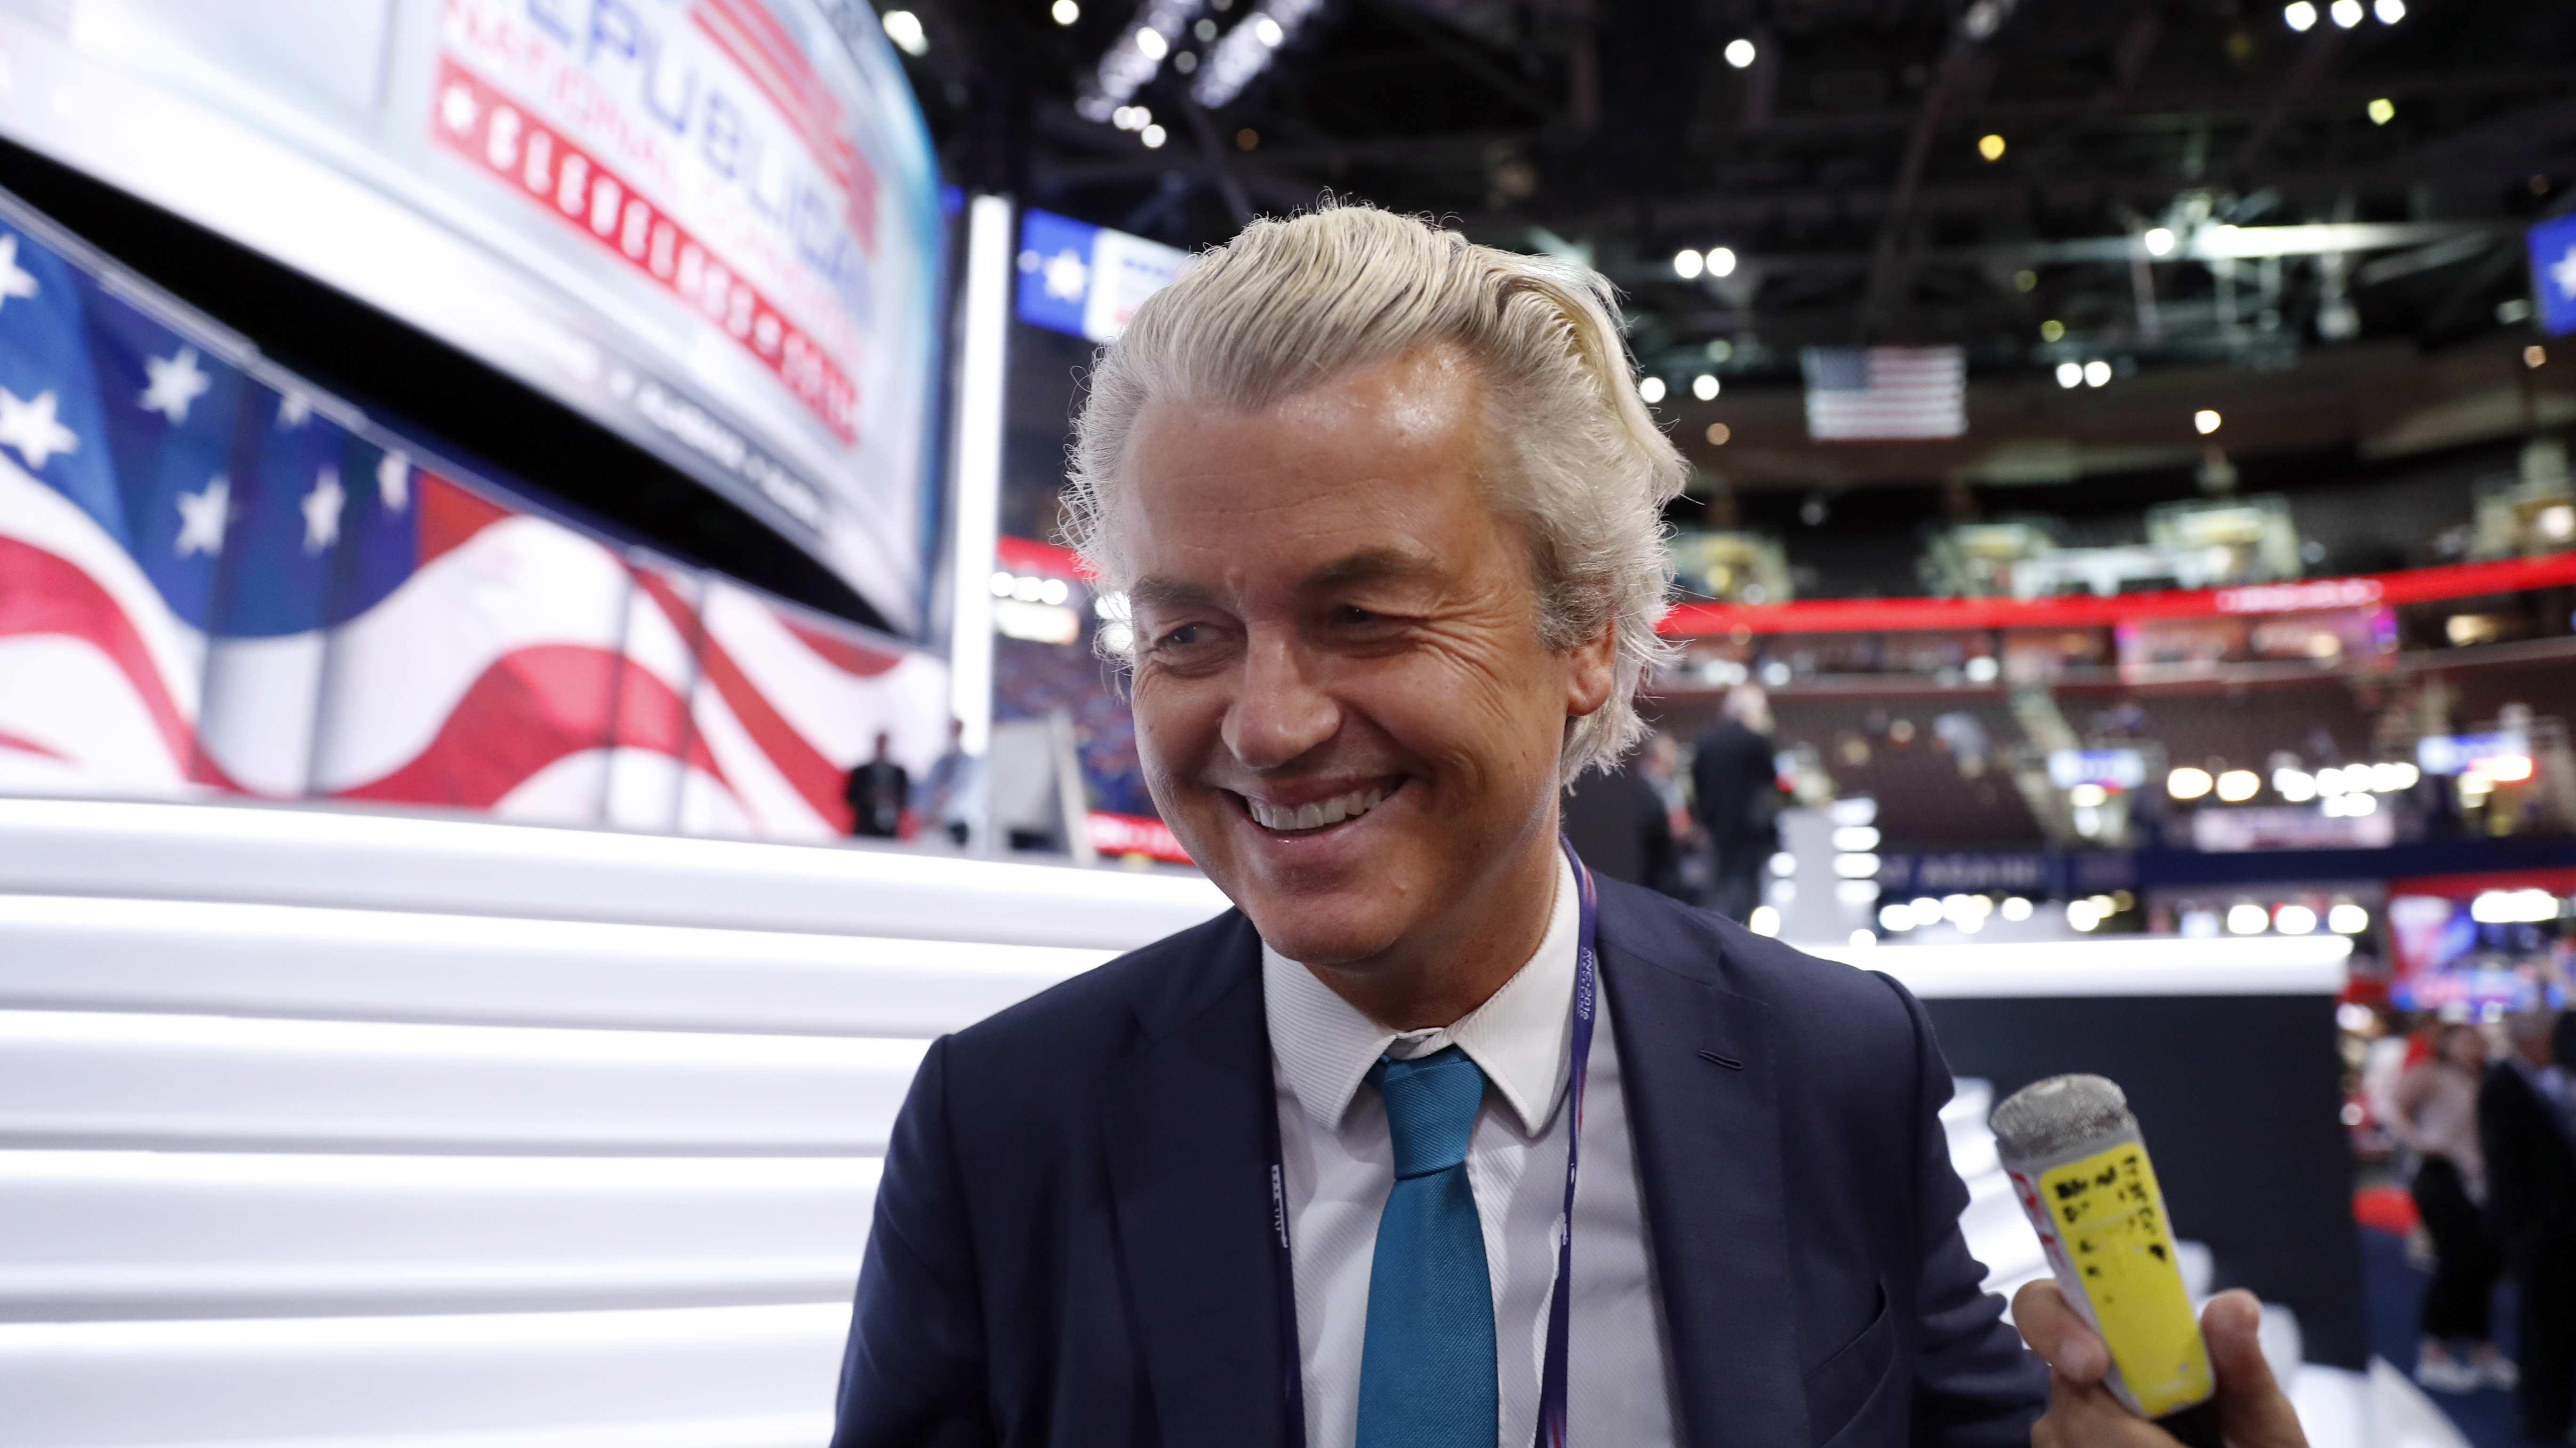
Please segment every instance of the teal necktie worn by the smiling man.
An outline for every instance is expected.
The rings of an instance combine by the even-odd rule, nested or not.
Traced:
[[[1494,1448],[1494,1288],[1484,1265],[1466,1144],[1484,1072],[1448,1046],[1378,1056],[1396,1185],[1368,1268],[1360,1345],[1360,1448]]]

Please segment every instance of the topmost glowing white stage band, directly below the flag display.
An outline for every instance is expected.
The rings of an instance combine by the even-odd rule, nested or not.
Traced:
[[[1113,951],[1226,910],[1185,871],[121,799],[0,799],[0,889]]]

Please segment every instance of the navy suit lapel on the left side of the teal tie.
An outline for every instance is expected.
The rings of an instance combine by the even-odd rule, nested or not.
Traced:
[[[1118,1252],[1167,1443],[1285,1435],[1270,1255],[1278,1110],[1249,922],[1139,1005],[1139,1043],[1108,1087]]]

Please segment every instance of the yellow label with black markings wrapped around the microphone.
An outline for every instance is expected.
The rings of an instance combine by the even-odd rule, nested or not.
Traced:
[[[2110,1348],[2112,1389],[2146,1417],[2210,1396],[2210,1350],[2174,1260],[2156,1167],[2138,1139],[2058,1162],[2035,1180],[2012,1172],[2066,1296]],[[2032,1201],[2035,1198],[2035,1201]],[[2089,1311],[2087,1311],[2089,1309]]]

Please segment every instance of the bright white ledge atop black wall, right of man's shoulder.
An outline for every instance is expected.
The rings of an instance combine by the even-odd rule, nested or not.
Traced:
[[[1924,1000],[2048,995],[2339,995],[2352,940],[2231,935],[2184,940],[1999,940],[1940,946],[1803,946],[1896,976]]]

